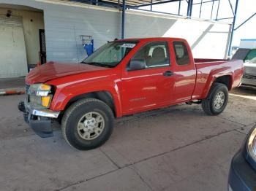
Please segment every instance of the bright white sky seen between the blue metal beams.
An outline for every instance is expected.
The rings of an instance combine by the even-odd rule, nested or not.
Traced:
[[[193,3],[200,3],[201,0],[194,0]],[[208,0],[203,0],[208,1]],[[233,9],[235,9],[236,0],[230,0],[231,4],[233,5]],[[211,17],[211,7],[212,2],[203,4],[201,18],[210,19]],[[213,18],[216,18],[217,15],[217,7],[218,1],[214,2],[214,9],[213,9]],[[143,9],[149,9],[149,7],[145,7]],[[159,12],[170,12],[178,14],[178,2],[168,3],[168,4],[159,4],[154,5],[153,11]],[[192,9],[192,17],[199,17],[200,12],[200,4],[194,5]],[[238,12],[236,16],[236,25],[239,26],[241,23],[244,22],[248,17],[253,15],[256,12],[256,0],[238,0]],[[181,14],[187,15],[187,1],[181,2]],[[219,1],[219,13],[218,18],[224,17],[233,17],[232,9],[230,8],[230,4],[228,0],[220,0]],[[233,19],[230,20],[223,20],[228,23],[232,23]],[[232,46],[238,46],[240,43],[240,39],[256,39],[256,15],[252,17],[244,26],[238,28],[234,32],[233,36],[233,44]]]

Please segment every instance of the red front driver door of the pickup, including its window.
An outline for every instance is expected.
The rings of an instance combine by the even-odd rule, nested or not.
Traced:
[[[139,68],[132,67],[137,63]],[[144,68],[141,67],[143,65]],[[122,67],[121,75],[124,114],[154,109],[173,100],[175,77],[171,71],[170,49],[166,41],[149,42],[140,47]]]

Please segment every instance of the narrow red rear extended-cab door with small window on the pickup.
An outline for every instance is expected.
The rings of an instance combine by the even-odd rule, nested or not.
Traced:
[[[186,41],[173,41],[173,52],[175,55],[173,66],[175,71],[174,102],[189,101],[195,87],[196,70],[195,63]]]

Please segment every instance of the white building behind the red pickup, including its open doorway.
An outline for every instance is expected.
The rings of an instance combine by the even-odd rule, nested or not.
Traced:
[[[219,21],[127,10],[124,37],[181,37],[196,58],[226,58],[230,30],[229,23]],[[40,52],[47,61],[78,63],[86,57],[81,35],[92,36],[96,49],[120,39],[121,10],[70,1],[0,0],[0,78],[25,76],[28,64],[40,61]]]

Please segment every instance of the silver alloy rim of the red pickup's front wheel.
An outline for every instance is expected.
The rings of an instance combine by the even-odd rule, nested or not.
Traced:
[[[96,139],[105,128],[105,120],[98,112],[89,112],[78,121],[78,135],[84,140]]]

